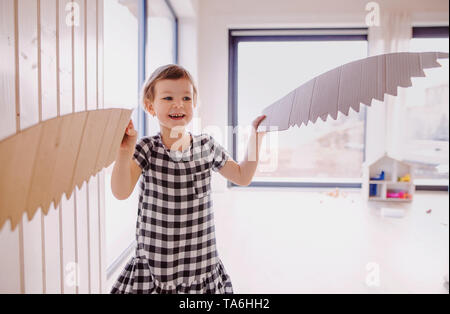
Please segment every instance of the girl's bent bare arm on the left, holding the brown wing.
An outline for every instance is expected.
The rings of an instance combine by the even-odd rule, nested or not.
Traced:
[[[133,161],[137,132],[130,120],[117,153],[111,176],[111,190],[119,200],[127,199],[133,193],[142,169]]]

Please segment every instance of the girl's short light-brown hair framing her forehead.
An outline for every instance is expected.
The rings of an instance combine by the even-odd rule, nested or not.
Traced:
[[[194,91],[194,101],[193,104],[197,103],[197,87],[194,82],[194,79],[192,75],[189,73],[188,70],[183,68],[180,65],[177,64],[166,64],[159,68],[157,68],[152,75],[150,75],[147,80],[145,81],[144,85],[141,89],[141,95],[140,100],[142,103],[142,106],[144,106],[144,110],[149,112],[149,108],[147,108],[145,104],[145,100],[149,99],[150,102],[153,102],[155,100],[155,86],[156,83],[161,80],[177,80],[185,78],[190,81],[192,84],[192,88]]]

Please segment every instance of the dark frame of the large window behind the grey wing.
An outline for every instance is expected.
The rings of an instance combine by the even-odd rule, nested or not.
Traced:
[[[228,30],[228,125],[233,129],[238,121],[238,44],[240,42],[274,42],[274,41],[351,41],[365,40],[368,42],[367,28],[280,28],[280,29],[241,29]],[[369,47],[369,45],[367,45]],[[369,55],[369,51],[367,51]],[[364,147],[366,146],[367,110],[364,108]],[[228,147],[237,160],[237,135],[233,132],[229,138]],[[365,161],[363,150],[363,162]],[[330,178],[331,179],[331,178]],[[228,188],[237,187],[237,184],[228,181]],[[336,180],[318,182],[251,182],[248,187],[302,187],[302,188],[361,188],[361,183],[340,182]]]

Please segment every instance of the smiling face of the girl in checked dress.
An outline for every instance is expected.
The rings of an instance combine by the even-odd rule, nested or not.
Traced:
[[[155,84],[154,100],[146,99],[148,111],[168,128],[183,127],[193,117],[193,87],[188,79],[164,79]]]

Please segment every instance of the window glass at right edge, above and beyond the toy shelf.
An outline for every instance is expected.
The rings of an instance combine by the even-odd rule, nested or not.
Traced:
[[[448,38],[413,38],[410,49],[448,52],[448,45]],[[439,63],[425,70],[426,78],[413,78],[406,93],[403,153],[416,179],[448,180],[448,59]]]

